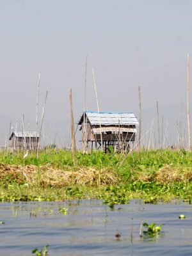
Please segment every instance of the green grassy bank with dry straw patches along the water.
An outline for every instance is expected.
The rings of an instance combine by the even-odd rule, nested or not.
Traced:
[[[185,150],[133,152],[132,155],[76,154],[47,150],[39,158],[24,152],[0,153],[0,200],[66,200],[100,198],[126,204],[175,198],[192,200],[192,154]]]

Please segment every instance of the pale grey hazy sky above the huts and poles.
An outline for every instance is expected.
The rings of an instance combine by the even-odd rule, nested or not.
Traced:
[[[97,110],[94,68],[100,111],[138,115],[140,86],[143,132],[153,116],[157,125],[158,101],[175,136],[181,112],[186,126],[191,14],[191,0],[0,0],[1,144],[10,122],[21,127],[22,115],[26,130],[29,123],[35,129],[39,72],[40,113],[48,91],[45,134],[68,140],[69,90],[77,123],[87,55],[86,108]]]

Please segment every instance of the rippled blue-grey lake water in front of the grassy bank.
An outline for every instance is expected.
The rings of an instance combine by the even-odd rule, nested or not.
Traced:
[[[60,208],[67,208],[62,214]],[[100,200],[0,204],[0,256],[192,255],[192,206],[184,202],[103,205]],[[184,214],[184,220],[179,215]],[[154,237],[140,237],[141,221],[163,223]],[[145,228],[143,228],[145,230]],[[116,238],[116,233],[120,238]]]

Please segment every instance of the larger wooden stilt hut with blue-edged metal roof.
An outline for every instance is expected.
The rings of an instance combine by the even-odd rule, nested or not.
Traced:
[[[79,120],[82,131],[82,141],[91,150],[102,145],[104,152],[109,146],[116,152],[129,151],[130,143],[136,137],[138,120],[134,113],[129,112],[97,112],[85,111]]]

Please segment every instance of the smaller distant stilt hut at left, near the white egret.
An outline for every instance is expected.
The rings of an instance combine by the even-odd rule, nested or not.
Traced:
[[[10,136],[10,147],[13,149],[29,149],[35,150],[38,146],[39,132],[15,132],[13,131]]]

